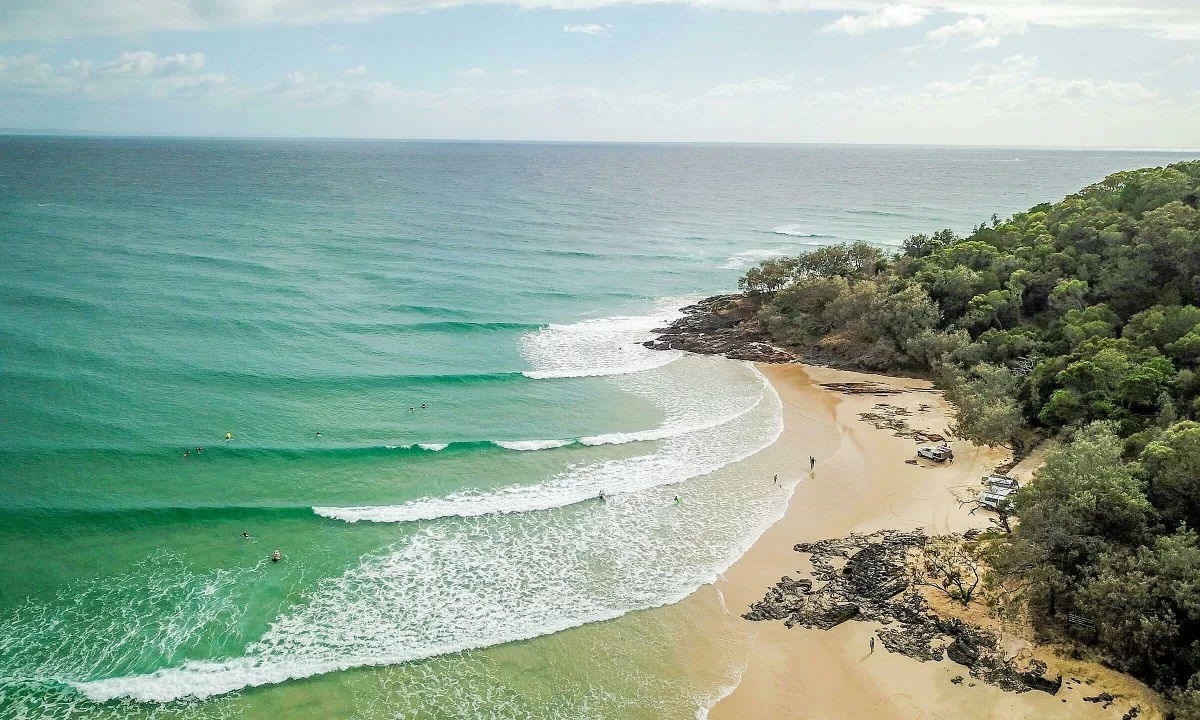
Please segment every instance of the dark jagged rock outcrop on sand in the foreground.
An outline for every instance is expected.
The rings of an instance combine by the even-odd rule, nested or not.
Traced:
[[[913,590],[907,556],[926,540],[920,530],[883,530],[800,542],[794,550],[809,554],[811,580],[780,578],[742,617],[823,630],[851,619],[881,623],[884,626],[877,635],[893,653],[922,662],[948,659],[966,667],[971,677],[1014,692],[1058,692],[1062,677],[1046,678],[1044,664],[1032,660],[1019,667],[1006,656],[995,634],[938,617]]]

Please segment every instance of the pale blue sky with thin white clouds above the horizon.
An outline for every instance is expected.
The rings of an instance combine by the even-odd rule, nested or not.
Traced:
[[[1200,0],[2,0],[0,128],[1200,146]]]

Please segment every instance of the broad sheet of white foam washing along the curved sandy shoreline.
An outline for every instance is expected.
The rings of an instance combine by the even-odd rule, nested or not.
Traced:
[[[682,600],[781,517],[790,494],[762,482],[762,469],[749,478],[727,464],[782,431],[779,396],[749,365],[689,356],[673,372],[632,376],[623,385],[670,398],[697,380],[706,394],[732,388],[739,397],[758,394],[763,401],[728,424],[664,442],[653,456],[594,463],[574,479],[587,484],[596,468],[616,473],[607,478],[614,481],[642,473],[683,478],[694,466],[725,467],[721,472],[668,491],[642,476],[637,482],[649,487],[606,503],[414,526],[392,546],[320,581],[239,658],[73,686],[95,701],[203,698],[529,638]],[[677,493],[684,497],[678,505],[671,500]]]

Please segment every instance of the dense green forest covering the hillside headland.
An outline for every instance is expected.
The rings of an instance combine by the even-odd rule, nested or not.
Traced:
[[[994,572],[1039,631],[1180,720],[1200,719],[1198,204],[1200,161],[1116,173],[966,238],[822,247],[739,281],[782,347],[934,377],[959,437],[1018,456],[1056,438],[1002,509]]]

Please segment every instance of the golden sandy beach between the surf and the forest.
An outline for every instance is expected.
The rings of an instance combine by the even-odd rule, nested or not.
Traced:
[[[869,641],[878,628],[871,623],[847,622],[821,631],[799,626],[788,630],[779,622],[740,618],[780,576],[794,577],[803,570],[803,556],[792,550],[796,542],[881,529],[924,528],[938,534],[986,527],[988,517],[971,515],[970,506],[955,498],[955,491],[962,494],[978,488],[979,478],[1007,457],[1003,451],[955,442],[953,464],[906,464],[904,461],[914,457],[918,446],[913,439],[895,437],[858,418],[859,413],[872,412],[877,403],[887,403],[908,409],[906,419],[913,428],[944,433],[949,425],[947,406],[928,382],[800,365],[760,368],[784,401],[786,426],[780,440],[766,452],[779,463],[780,481],[796,485],[786,516],[718,583],[730,608],[725,622],[750,636],[752,650],[736,688],[712,708],[710,718],[1079,719],[1121,718],[1129,709],[1130,702],[1123,700],[1109,709],[1082,701],[1099,692],[1106,682],[1112,685],[1123,679],[1127,686],[1136,686],[1097,666],[1070,667],[1070,674],[1082,683],[1064,684],[1056,696],[1039,691],[1013,694],[976,682],[965,667],[949,660],[919,662],[889,653],[878,643],[871,652]],[[821,386],[864,380],[905,392],[847,395]],[[817,460],[811,473],[809,455]],[[955,676],[965,676],[966,680],[952,684]],[[1142,707],[1142,718],[1153,716],[1147,709]]]

